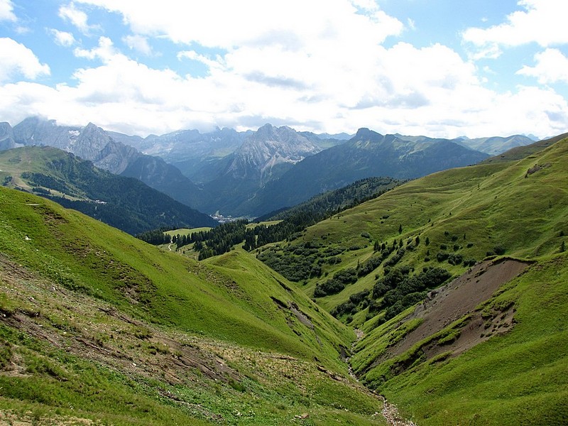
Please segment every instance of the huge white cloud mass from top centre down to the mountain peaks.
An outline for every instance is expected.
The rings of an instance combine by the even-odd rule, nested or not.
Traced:
[[[153,38],[173,41],[180,62],[172,66],[183,70],[197,61],[207,67],[205,75],[150,67],[101,37],[92,49],[75,48],[78,58],[94,62],[75,70],[73,84],[0,86],[0,116],[21,114],[13,109],[18,105],[26,115],[93,121],[142,136],[215,125],[243,130],[266,122],[329,133],[366,126],[440,137],[566,131],[568,105],[553,89],[498,94],[473,62],[447,46],[399,42],[386,48],[383,41],[398,36],[403,24],[374,1],[150,3],[75,0],[120,13],[132,34],[123,40],[132,49],[150,54]],[[74,22],[92,29],[86,14]],[[493,47],[497,55],[500,45],[480,45]],[[548,56],[535,61],[520,73],[561,80],[545,74]]]

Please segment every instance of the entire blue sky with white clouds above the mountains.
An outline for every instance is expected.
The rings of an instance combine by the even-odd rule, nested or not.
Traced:
[[[537,138],[568,131],[565,0],[0,0],[0,121]]]

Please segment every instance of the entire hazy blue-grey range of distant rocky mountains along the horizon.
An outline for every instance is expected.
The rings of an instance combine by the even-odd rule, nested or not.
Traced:
[[[58,126],[31,117],[0,126],[0,148],[48,145],[90,160],[111,173],[137,178],[202,212],[255,217],[292,207],[362,178],[411,179],[476,163],[525,136],[459,138],[380,135],[317,135],[287,126],[258,131],[177,131],[163,136],[127,136],[94,124]],[[151,155],[149,155],[151,154]]]

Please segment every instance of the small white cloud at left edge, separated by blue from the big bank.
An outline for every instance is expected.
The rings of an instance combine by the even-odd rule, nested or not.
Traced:
[[[11,38],[0,38],[0,82],[16,75],[33,80],[40,75],[49,74],[49,66],[40,63],[26,46]]]

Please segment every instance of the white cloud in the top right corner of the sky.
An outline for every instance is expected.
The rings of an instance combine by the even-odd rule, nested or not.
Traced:
[[[506,22],[489,28],[468,28],[462,35],[464,40],[492,53],[498,52],[500,45],[538,43],[548,47],[568,43],[568,1],[519,0],[518,6],[524,10],[510,13]]]

